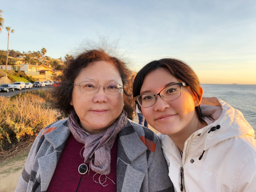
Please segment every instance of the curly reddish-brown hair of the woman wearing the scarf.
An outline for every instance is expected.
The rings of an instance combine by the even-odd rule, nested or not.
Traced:
[[[74,80],[83,68],[86,68],[89,63],[94,61],[107,61],[118,69],[124,87],[124,110],[127,112],[127,118],[132,119],[135,102],[132,97],[131,71],[124,62],[108,55],[102,49],[87,50],[78,57],[66,61],[65,68],[60,76],[60,85],[51,91],[54,106],[65,116],[71,113],[73,106],[70,105],[70,101],[72,99]]]

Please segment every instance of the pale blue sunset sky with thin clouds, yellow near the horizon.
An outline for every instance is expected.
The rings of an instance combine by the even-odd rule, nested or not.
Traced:
[[[0,50],[64,58],[102,42],[131,70],[177,58],[201,83],[256,84],[255,0],[1,1]],[[106,46],[105,46],[106,47]]]

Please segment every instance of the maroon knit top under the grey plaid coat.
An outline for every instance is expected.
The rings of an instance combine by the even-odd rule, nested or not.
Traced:
[[[51,178],[47,192],[116,191],[117,140],[116,138],[110,151],[110,174],[107,175],[115,184],[106,178],[105,175],[102,175],[100,179],[103,183],[106,178],[106,182],[103,185],[108,184],[107,186],[103,187],[101,184],[96,183],[94,180],[99,182],[99,176],[101,174],[95,175],[93,180],[92,177],[96,172],[91,169],[89,170],[89,163],[87,163],[88,172],[86,174],[82,175],[78,172],[79,165],[84,163],[83,150],[81,151],[84,144],[79,143],[70,134]],[[82,157],[80,156],[80,151]]]

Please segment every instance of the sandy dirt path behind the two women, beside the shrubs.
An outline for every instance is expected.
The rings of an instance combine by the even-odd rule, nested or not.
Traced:
[[[134,122],[138,123],[138,116],[134,117]],[[148,128],[158,133],[150,125]],[[3,163],[0,162],[0,192],[13,192],[16,189],[31,146],[32,144],[23,147],[15,156],[4,159]]]

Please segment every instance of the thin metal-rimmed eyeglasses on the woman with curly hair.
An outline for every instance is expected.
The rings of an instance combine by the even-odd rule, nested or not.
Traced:
[[[74,85],[80,85],[80,89],[85,92],[85,93],[95,93],[96,91],[98,91],[99,87],[103,87],[103,89],[111,94],[111,95],[116,95],[118,93],[120,93],[123,89],[123,87],[118,84],[118,83],[109,83],[106,85],[99,85],[96,82],[93,81],[84,81],[82,83],[74,83]]]

